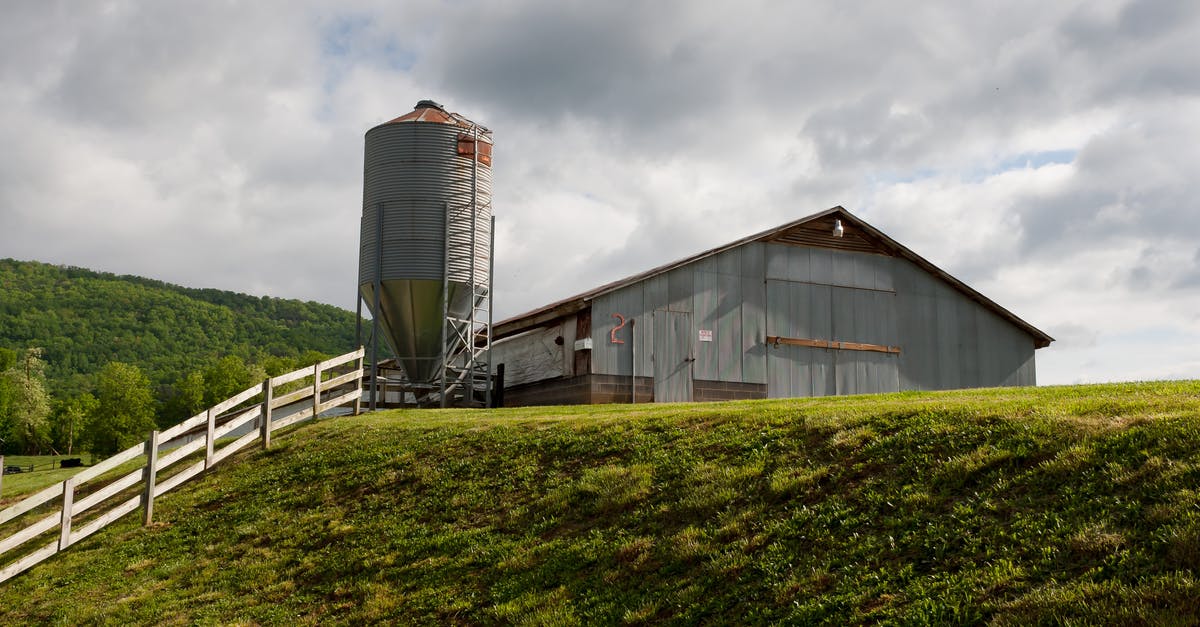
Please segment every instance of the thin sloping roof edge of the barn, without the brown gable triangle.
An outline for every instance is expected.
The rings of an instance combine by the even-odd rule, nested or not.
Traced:
[[[938,279],[941,279],[942,281],[949,283],[952,287],[954,287],[955,289],[958,289],[959,292],[961,292],[964,295],[966,295],[971,300],[974,300],[976,303],[983,305],[984,307],[992,310],[1000,317],[1009,321],[1010,323],[1015,324],[1016,327],[1020,327],[1026,333],[1028,333],[1030,335],[1033,336],[1033,339],[1034,339],[1034,346],[1037,348],[1044,348],[1046,346],[1050,346],[1050,342],[1054,341],[1054,338],[1051,338],[1050,335],[1048,335],[1045,332],[1038,329],[1033,324],[1030,324],[1028,322],[1026,322],[1025,320],[1022,320],[1021,317],[1019,317],[1016,314],[1013,314],[1012,311],[1009,311],[1009,310],[1004,309],[1003,306],[1001,306],[998,303],[996,303],[996,301],[991,300],[990,298],[983,295],[982,293],[979,293],[978,291],[976,291],[973,287],[968,286],[967,283],[965,283],[965,282],[960,281],[959,279],[954,277],[953,275],[950,275],[948,271],[938,268],[937,265],[934,265],[934,263],[930,262],[929,259],[925,259],[920,255],[917,255],[916,252],[913,252],[911,249],[908,249],[904,244],[900,244],[899,241],[892,239],[886,233],[883,233],[882,231],[880,231],[880,229],[875,228],[874,226],[869,225],[866,221],[864,221],[863,219],[858,217],[857,215],[850,213],[846,208],[844,208],[841,205],[835,205],[835,207],[832,207],[832,208],[826,209],[823,211],[817,211],[815,214],[811,214],[811,215],[808,215],[808,216],[793,220],[791,222],[780,225],[778,227],[768,228],[766,231],[755,233],[752,235],[746,235],[744,238],[737,239],[737,240],[731,241],[728,244],[722,244],[722,245],[716,246],[714,249],[709,249],[709,250],[706,250],[706,251],[702,251],[702,252],[697,252],[695,255],[691,255],[691,256],[688,256],[688,257],[684,257],[684,258],[680,258],[680,259],[676,259],[673,262],[670,262],[670,263],[666,263],[666,264],[662,264],[662,265],[658,265],[658,267],[650,268],[649,270],[644,270],[644,271],[641,271],[641,273],[637,273],[637,274],[632,274],[632,275],[625,276],[624,279],[618,279],[616,281],[611,281],[611,282],[604,283],[601,286],[598,286],[598,287],[594,287],[594,288],[588,289],[586,292],[581,292],[578,294],[564,298],[562,300],[556,300],[556,301],[550,303],[547,305],[542,305],[540,307],[526,311],[524,314],[518,314],[516,316],[511,316],[511,317],[505,318],[505,320],[503,320],[500,322],[497,322],[494,324],[493,338],[496,338],[496,339],[506,338],[509,335],[515,335],[517,333],[521,333],[521,332],[524,332],[524,330],[528,330],[528,329],[532,329],[532,328],[535,328],[535,327],[540,327],[540,326],[546,324],[546,323],[548,323],[548,322],[551,322],[553,320],[557,320],[559,317],[569,316],[571,314],[576,314],[578,311],[582,311],[582,310],[584,310],[584,309],[587,309],[589,306],[589,304],[590,304],[592,300],[594,300],[595,298],[601,297],[604,294],[607,294],[610,292],[614,292],[614,291],[620,289],[623,287],[628,287],[628,286],[634,285],[634,283],[636,283],[638,281],[644,281],[647,279],[658,276],[658,275],[664,274],[664,273],[668,273],[668,271],[671,271],[671,270],[673,270],[676,268],[679,268],[682,265],[686,265],[689,263],[697,262],[697,261],[704,259],[707,257],[712,257],[714,255],[720,255],[721,252],[736,249],[738,246],[743,246],[745,244],[750,244],[750,243],[754,243],[754,241],[772,240],[776,235],[784,234],[785,232],[791,231],[791,229],[793,229],[796,227],[799,227],[802,225],[805,225],[805,223],[809,223],[809,222],[814,222],[814,221],[817,221],[817,220],[821,220],[821,219],[832,217],[834,215],[838,215],[839,217],[845,219],[848,225],[852,225],[852,226],[859,228],[860,231],[865,232],[866,234],[869,234],[871,238],[874,238],[875,240],[877,240],[878,244],[882,244],[883,247],[887,249],[890,253],[893,253],[893,255],[895,255],[898,257],[904,257],[904,258],[908,259],[910,262],[912,262],[918,268],[920,268],[920,269],[925,270],[926,273],[930,273],[930,274],[937,276]]]

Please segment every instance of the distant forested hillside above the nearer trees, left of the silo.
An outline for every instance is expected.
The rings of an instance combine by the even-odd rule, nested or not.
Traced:
[[[52,389],[108,362],[172,383],[223,356],[246,362],[354,348],[354,314],[332,305],[196,289],[84,268],[0,259],[0,347],[46,350]],[[86,387],[86,384],[83,384]]]

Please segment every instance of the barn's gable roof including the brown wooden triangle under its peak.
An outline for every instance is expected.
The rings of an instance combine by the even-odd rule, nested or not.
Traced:
[[[835,220],[842,221],[845,234],[841,238],[834,238],[830,235]],[[683,259],[667,263],[665,265],[659,265],[658,268],[652,268],[643,273],[626,276],[624,279],[613,281],[611,283],[605,283],[593,289],[588,289],[587,292],[582,292],[572,297],[564,298],[562,300],[556,300],[554,303],[551,303],[548,305],[544,305],[538,309],[527,311],[524,314],[512,316],[510,318],[496,323],[492,329],[492,336],[493,339],[498,340],[535,327],[540,327],[542,324],[547,324],[563,316],[569,316],[571,314],[576,314],[578,311],[588,309],[589,306],[592,306],[592,300],[594,300],[596,297],[607,294],[610,292],[614,292],[623,287],[634,285],[638,281],[644,281],[646,279],[650,279],[653,276],[668,273],[682,265],[686,265],[689,263],[707,257],[712,257],[714,255],[719,255],[730,249],[736,249],[738,246],[750,244],[752,241],[778,241],[792,245],[833,247],[854,252],[874,252],[893,257],[902,257],[912,262],[918,268],[925,270],[926,273],[937,276],[942,281],[946,281],[947,283],[950,285],[950,287],[954,287],[960,293],[962,293],[962,295],[967,297],[971,300],[974,300],[976,303],[995,312],[997,316],[1007,320],[1008,322],[1013,323],[1021,330],[1032,335],[1034,347],[1045,348],[1046,346],[1050,346],[1050,342],[1054,341],[1054,338],[1046,335],[1045,332],[1038,329],[1037,327],[1030,324],[1028,322],[1025,322],[1012,311],[1008,311],[1007,309],[1000,306],[990,298],[980,294],[971,286],[955,279],[946,270],[942,270],[941,268],[934,265],[920,255],[917,255],[916,252],[908,250],[899,241],[889,238],[882,231],[864,222],[862,219],[859,219],[854,214],[851,214],[842,207],[834,207],[832,209],[826,209],[824,211],[820,211],[810,216],[805,216],[799,220],[787,222],[786,225],[781,225],[775,228],[763,231],[761,233],[755,233],[752,235],[742,238],[736,241],[731,241],[722,246],[706,250],[703,252],[698,252],[690,257],[685,257]]]

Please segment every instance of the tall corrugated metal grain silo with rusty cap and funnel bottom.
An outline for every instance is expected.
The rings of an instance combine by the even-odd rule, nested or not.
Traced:
[[[491,322],[491,131],[427,100],[366,132],[359,293],[418,386],[440,380],[444,389],[446,377],[451,387],[464,377],[469,386],[474,374],[461,372],[481,368],[478,346],[486,347]]]

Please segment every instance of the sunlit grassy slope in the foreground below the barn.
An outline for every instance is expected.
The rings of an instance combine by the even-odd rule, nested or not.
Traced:
[[[0,585],[0,623],[1195,623],[1198,395],[326,420]]]

